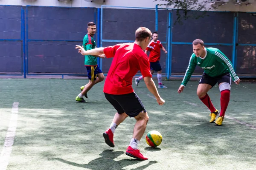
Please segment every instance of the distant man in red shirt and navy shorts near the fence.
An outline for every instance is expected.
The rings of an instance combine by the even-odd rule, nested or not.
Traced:
[[[149,43],[148,47],[145,50],[145,54],[149,51],[149,62],[150,62],[150,72],[151,74],[154,73],[154,71],[157,71],[157,80],[158,80],[158,88],[167,88],[162,84],[162,68],[159,63],[160,60],[160,54],[161,49],[164,51],[165,54],[167,54],[166,49],[163,47],[161,42],[158,39],[157,32],[153,32],[152,34],[152,41]],[[143,79],[143,75],[139,78],[135,78],[135,84],[138,86],[140,80]]]

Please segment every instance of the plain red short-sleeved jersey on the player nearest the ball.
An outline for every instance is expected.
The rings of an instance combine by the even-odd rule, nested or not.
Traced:
[[[129,94],[134,92],[132,79],[140,70],[143,77],[152,77],[148,56],[140,45],[117,44],[104,48],[107,58],[113,57],[103,92],[107,94]]]

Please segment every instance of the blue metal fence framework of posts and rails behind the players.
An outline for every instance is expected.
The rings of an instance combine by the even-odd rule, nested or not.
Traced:
[[[62,77],[64,75],[81,75],[81,74],[65,74],[65,73],[60,73],[60,74],[56,74],[56,73],[47,73],[47,74],[31,74],[31,72],[29,69],[32,68],[31,67],[31,63],[29,63],[30,59],[33,59],[32,57],[29,56],[29,51],[30,53],[35,52],[35,51],[31,51],[29,49],[31,45],[35,45],[33,43],[38,43],[41,42],[44,45],[49,45],[49,43],[53,43],[53,45],[58,46],[59,44],[56,43],[61,43],[61,42],[67,42],[67,43],[81,43],[82,40],[79,38],[79,40],[73,40],[72,38],[69,39],[61,39],[61,38],[56,38],[58,36],[56,36],[53,39],[47,39],[47,38],[38,38],[38,36],[40,37],[41,35],[39,34],[35,34],[35,32],[31,32],[30,29],[33,28],[36,24],[36,21],[33,23],[32,22],[32,15],[29,15],[29,10],[31,8],[43,8],[43,7],[33,7],[33,6],[26,6],[26,7],[19,7],[20,8],[20,38],[14,38],[12,39],[12,37],[8,37],[8,38],[3,38],[0,39],[0,41],[3,42],[20,42],[21,43],[21,58],[22,58],[22,62],[21,62],[21,71],[20,74],[4,74],[4,75],[23,75],[24,78],[26,78],[26,76],[29,75],[62,75]],[[56,7],[44,7],[44,8],[56,8]],[[64,8],[69,8],[69,7],[64,7]],[[73,8],[73,7],[71,7]],[[190,42],[177,42],[177,36],[174,40],[173,35],[174,35],[174,30],[173,28],[175,28],[174,24],[173,24],[173,20],[175,20],[174,18],[174,13],[173,11],[175,11],[175,9],[164,9],[164,8],[158,8],[158,6],[156,6],[156,8],[137,8],[137,7],[123,7],[123,6],[102,6],[101,8],[93,8],[93,18],[92,20],[94,20],[94,22],[97,22],[97,27],[100,28],[100,31],[97,31],[96,34],[96,40],[97,40],[97,46],[102,46],[102,42],[109,42],[109,43],[117,43],[117,42],[133,42],[133,40],[110,40],[110,39],[104,39],[103,36],[103,11],[104,8],[132,8],[132,9],[147,9],[147,10],[154,10],[155,11],[155,30],[158,31],[159,30],[159,11],[160,10],[166,10],[167,11],[167,22],[166,22],[166,41],[162,41],[163,44],[167,45],[167,51],[169,51],[168,53],[168,57],[166,57],[166,73],[164,76],[166,76],[168,79],[169,77],[183,77],[183,75],[175,75],[173,74],[173,55],[174,55],[174,51],[173,51],[173,46],[174,45],[192,45],[192,43]],[[84,8],[85,9],[85,8]],[[36,10],[35,10],[36,11]],[[216,12],[216,11],[214,11]],[[225,11],[227,12],[227,11]],[[226,42],[226,43],[213,43],[213,42],[207,42],[205,43],[205,45],[215,45],[215,46],[230,46],[230,48],[232,47],[232,55],[231,55],[231,62],[236,70],[236,68],[238,67],[238,63],[237,63],[237,57],[238,57],[238,47],[247,47],[247,46],[251,46],[251,47],[255,47],[256,44],[253,44],[251,42],[254,41],[250,41],[249,43],[244,43],[244,41],[239,40],[239,25],[241,25],[241,21],[239,23],[239,12],[233,12],[234,16],[233,16],[233,31],[232,31],[232,42]],[[244,14],[243,14],[244,15]],[[47,17],[47,16],[46,16]],[[34,25],[33,25],[34,24]],[[77,37],[81,37],[81,35],[77,36]],[[174,40],[174,41],[173,41]],[[55,44],[54,44],[55,43]],[[174,49],[175,50],[175,49]],[[33,54],[34,55],[34,54]],[[98,61],[98,65],[100,68],[102,68],[102,59],[99,59]],[[185,70],[184,70],[185,71]],[[255,73],[253,73],[255,74]],[[198,77],[198,76],[195,76]],[[255,77],[250,77],[250,76],[244,76],[244,78],[255,78]]]

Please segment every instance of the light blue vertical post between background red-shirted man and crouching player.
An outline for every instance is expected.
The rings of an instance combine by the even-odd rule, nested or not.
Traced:
[[[172,74],[172,13],[169,12],[169,20],[168,20],[168,65],[167,65],[167,79],[169,79],[170,74]]]

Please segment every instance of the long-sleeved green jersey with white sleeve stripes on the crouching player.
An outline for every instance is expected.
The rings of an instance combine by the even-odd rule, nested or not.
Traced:
[[[204,72],[210,77],[217,77],[224,73],[230,73],[232,80],[235,82],[239,79],[236,75],[230,60],[217,48],[205,48],[206,55],[204,58],[196,57],[193,53],[189,59],[189,66],[181,85],[186,86],[196,65],[204,69]]]

